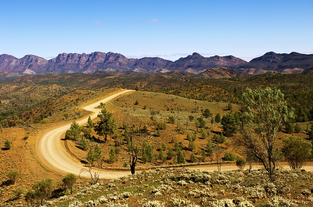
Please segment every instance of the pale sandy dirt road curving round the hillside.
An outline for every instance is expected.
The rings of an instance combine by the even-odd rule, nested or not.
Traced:
[[[116,93],[112,96],[109,96],[107,98],[104,98],[103,100],[100,100],[96,103],[90,104],[83,109],[92,111],[90,115],[91,119],[94,119],[97,117],[99,111],[101,109],[96,109],[97,106],[100,105],[101,102],[106,103],[113,98],[120,96],[122,94],[131,92],[133,90],[126,90],[119,93]],[[87,118],[80,119],[77,121],[79,125],[86,125]],[[35,148],[38,158],[40,159],[41,163],[48,169],[51,169],[53,171],[59,172],[59,173],[73,173],[75,175],[79,175],[79,172],[82,168],[84,168],[84,165],[77,161],[76,159],[73,159],[69,153],[66,151],[64,146],[62,145],[61,138],[64,136],[66,130],[70,128],[71,123],[69,124],[63,124],[58,127],[53,127],[50,129],[47,129],[42,136],[39,137],[39,139],[36,140]],[[285,163],[282,163],[283,169],[289,169],[289,166]],[[85,167],[86,168],[86,167]],[[201,166],[191,166],[190,168],[193,169],[201,169],[206,171],[214,171],[217,170],[216,165],[201,165]],[[261,166],[256,166],[254,169],[261,168]],[[234,164],[225,164],[222,165],[221,170],[237,170],[237,166]],[[309,163],[307,166],[304,167],[307,171],[313,170],[312,163]],[[105,179],[115,179],[121,176],[130,175],[130,171],[128,172],[121,172],[121,171],[105,171],[102,170],[100,173],[99,178],[105,178]],[[85,174],[81,176],[89,177],[90,175]]]

